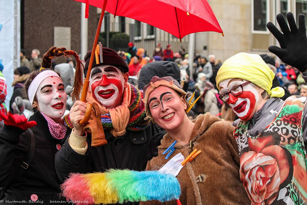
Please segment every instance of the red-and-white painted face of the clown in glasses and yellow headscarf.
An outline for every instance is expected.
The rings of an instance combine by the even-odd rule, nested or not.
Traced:
[[[232,80],[230,83],[229,81]],[[247,80],[233,80],[233,78],[223,80],[219,86],[220,93],[229,92],[233,87],[244,84]],[[237,96],[229,94],[227,104],[232,108],[233,112],[243,120],[249,120],[253,117],[257,104],[259,103],[259,93],[252,84],[243,87],[243,92]]]

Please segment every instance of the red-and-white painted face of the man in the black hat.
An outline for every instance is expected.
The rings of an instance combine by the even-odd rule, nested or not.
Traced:
[[[98,66],[91,71],[90,89],[93,97],[107,109],[121,105],[124,83],[122,72],[114,66]]]

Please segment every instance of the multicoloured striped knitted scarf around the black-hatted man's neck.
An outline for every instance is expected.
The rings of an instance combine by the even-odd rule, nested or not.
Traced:
[[[126,129],[130,131],[144,130],[148,125],[149,120],[144,119],[146,114],[144,103],[142,101],[143,91],[138,90],[133,85],[130,85],[130,88],[131,100],[130,105],[128,106],[130,116]],[[69,128],[73,128],[69,115],[64,117],[64,124]],[[101,124],[104,129],[111,130],[113,128],[112,119],[109,113],[101,115]]]

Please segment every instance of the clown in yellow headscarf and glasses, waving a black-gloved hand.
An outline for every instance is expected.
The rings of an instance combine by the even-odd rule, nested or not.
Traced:
[[[298,28],[292,13],[287,18],[290,28],[284,17],[277,15],[282,33],[268,23],[280,43],[280,48],[269,50],[303,72],[307,68],[307,49],[300,46],[307,45],[304,17],[299,16]],[[293,46],[299,50],[296,55]],[[307,72],[302,75],[307,79]],[[238,53],[218,70],[216,85],[220,99],[239,117],[234,122],[239,174],[252,204],[306,204],[307,98],[281,100],[284,90],[271,89],[274,76],[259,55]]]

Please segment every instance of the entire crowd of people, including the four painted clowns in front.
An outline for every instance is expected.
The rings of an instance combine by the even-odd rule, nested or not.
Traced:
[[[0,203],[70,203],[60,186],[71,173],[157,170],[178,156],[169,170],[178,170],[179,199],[124,204],[306,204],[307,37],[303,15],[298,28],[287,19],[277,15],[281,32],[267,24],[281,63],[210,54],[189,68],[183,48],[158,44],[149,57],[131,42],[126,52],[100,48],[92,67],[92,51],[83,65],[65,48],[42,58],[34,49],[30,60],[21,50],[12,85],[0,64]],[[73,187],[76,204],[104,201]]]

